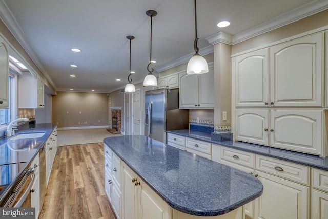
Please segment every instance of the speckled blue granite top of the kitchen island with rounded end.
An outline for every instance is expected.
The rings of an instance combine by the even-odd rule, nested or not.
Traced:
[[[107,137],[104,143],[171,207],[187,214],[228,213],[263,190],[253,175],[146,136]]]

